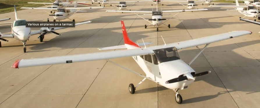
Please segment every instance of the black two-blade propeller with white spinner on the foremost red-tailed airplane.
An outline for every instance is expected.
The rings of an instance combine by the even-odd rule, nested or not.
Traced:
[[[181,77],[178,77],[178,78],[174,78],[174,79],[166,81],[165,83],[166,84],[170,84],[170,83],[176,83],[176,82],[180,82],[180,81],[184,81],[184,80],[195,80],[194,77],[199,77],[199,76],[202,76],[202,75],[206,75],[206,74],[209,74],[210,72],[211,71],[206,71],[206,72],[201,72],[201,73],[197,73],[197,74],[193,74],[193,75],[191,75],[190,73],[187,73],[186,76],[181,76]]]

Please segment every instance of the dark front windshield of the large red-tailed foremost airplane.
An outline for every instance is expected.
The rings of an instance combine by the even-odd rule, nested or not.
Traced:
[[[153,50],[159,64],[163,62],[169,62],[180,59],[179,53],[176,47],[170,47],[165,49]]]

